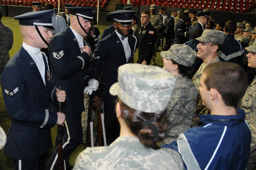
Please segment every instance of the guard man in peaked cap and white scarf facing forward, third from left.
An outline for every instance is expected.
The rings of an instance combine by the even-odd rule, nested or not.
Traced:
[[[135,11],[119,10],[111,12],[114,16],[114,27],[116,30],[110,35],[101,39],[96,44],[93,53],[93,60],[90,63],[88,74],[100,77],[101,70],[104,71],[104,124],[107,138],[107,145],[112,143],[118,136],[118,120],[115,113],[116,97],[110,95],[109,89],[117,82],[118,67],[126,63],[133,63],[137,39],[130,35],[132,16]],[[104,65],[103,65],[104,62]],[[101,109],[98,96],[95,96],[94,105]]]

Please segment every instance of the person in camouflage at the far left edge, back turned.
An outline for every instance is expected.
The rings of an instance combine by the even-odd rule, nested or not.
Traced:
[[[9,51],[13,44],[12,30],[1,22],[2,16],[2,7],[0,7],[0,76],[5,65],[10,60]]]

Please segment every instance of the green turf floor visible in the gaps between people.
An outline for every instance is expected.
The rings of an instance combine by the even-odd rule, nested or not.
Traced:
[[[1,21],[3,22],[3,24],[9,26],[13,31],[14,43],[13,43],[12,49],[9,52],[10,57],[12,57],[20,49],[20,46],[22,45],[22,36],[20,34],[19,24],[18,24],[17,20],[14,20],[13,18],[10,18],[10,17],[3,17],[1,19]],[[102,31],[108,26],[97,25],[97,27],[99,28],[100,33],[102,34]],[[159,50],[161,50],[161,49],[162,49],[162,47],[159,47]],[[138,52],[135,53],[134,61],[137,61],[137,59],[138,59]],[[157,63],[156,66],[163,67],[162,57],[160,56],[159,52],[157,52],[157,57],[156,57],[155,62]],[[6,113],[6,109],[5,109],[4,102],[3,102],[3,94],[2,94],[1,87],[0,87],[0,126],[5,130],[5,133],[7,133],[10,124],[11,124],[11,120],[10,120],[8,114]],[[53,143],[55,143],[55,137],[57,134],[56,127],[57,126],[52,128]],[[78,148],[74,151],[74,153],[71,155],[71,158],[69,161],[69,163],[71,165],[74,165],[76,157],[78,156],[79,152],[84,150],[84,148],[85,148],[85,146],[83,144],[80,144],[78,146]],[[3,155],[3,150],[4,150],[4,148],[0,152],[0,170],[11,170],[11,169],[13,169],[12,160],[10,158],[7,158],[5,155]],[[51,156],[52,152],[53,152],[53,149],[51,149],[48,152],[48,157]]]

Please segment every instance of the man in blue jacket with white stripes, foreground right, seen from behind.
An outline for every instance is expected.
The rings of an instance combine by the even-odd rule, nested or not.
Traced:
[[[251,132],[238,103],[247,87],[244,69],[235,63],[207,65],[200,79],[200,94],[210,115],[199,115],[202,126],[180,134],[163,147],[182,156],[186,169],[245,170]]]

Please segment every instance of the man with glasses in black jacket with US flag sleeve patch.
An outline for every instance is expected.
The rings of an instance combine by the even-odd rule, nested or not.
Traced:
[[[153,56],[157,32],[150,23],[150,12],[142,12],[140,20],[143,26],[138,35],[139,54],[137,63],[149,65]]]

